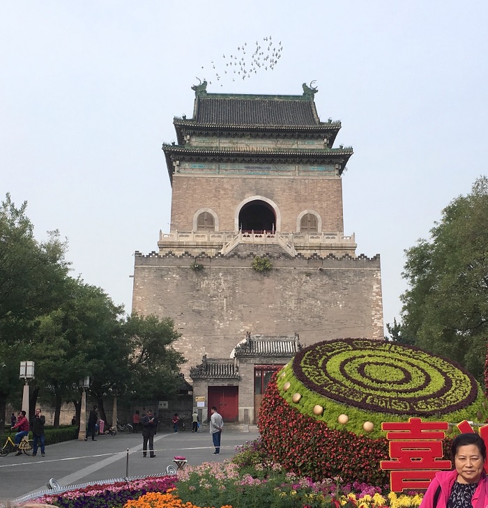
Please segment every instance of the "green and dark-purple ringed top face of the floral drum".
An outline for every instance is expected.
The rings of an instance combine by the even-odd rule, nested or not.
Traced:
[[[432,416],[470,405],[471,374],[417,348],[366,339],[323,341],[300,351],[293,374],[307,388],[380,413]]]

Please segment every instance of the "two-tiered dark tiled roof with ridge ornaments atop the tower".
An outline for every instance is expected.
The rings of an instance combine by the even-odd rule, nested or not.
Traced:
[[[174,118],[178,144],[163,144],[169,178],[172,178],[173,162],[257,162],[283,164],[337,164],[339,174],[351,157],[353,149],[333,148],[340,121],[321,122],[314,102],[317,88],[303,84],[302,95],[247,95],[208,93],[206,82],[192,86],[195,90],[193,118]],[[284,148],[275,146],[222,147],[220,143],[194,145],[192,136],[208,140],[218,138],[301,139],[314,140],[313,146]],[[320,146],[321,144],[321,146]]]

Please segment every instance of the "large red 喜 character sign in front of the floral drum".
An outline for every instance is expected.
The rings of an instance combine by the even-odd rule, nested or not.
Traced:
[[[442,460],[442,441],[448,427],[448,422],[422,422],[421,418],[381,424],[381,429],[388,431],[392,460],[381,461],[380,467],[391,470],[392,491],[427,488],[437,471],[451,468],[451,461]]]

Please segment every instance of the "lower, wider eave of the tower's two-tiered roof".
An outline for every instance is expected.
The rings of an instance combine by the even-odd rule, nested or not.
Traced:
[[[252,160],[254,162],[303,162],[304,160],[340,163],[340,175],[344,170],[349,157],[353,155],[351,147],[322,148],[320,150],[273,150],[270,148],[236,150],[235,148],[219,148],[205,150],[202,148],[187,148],[185,146],[163,144],[169,180],[172,181],[174,160],[205,160],[207,162],[234,162]]]

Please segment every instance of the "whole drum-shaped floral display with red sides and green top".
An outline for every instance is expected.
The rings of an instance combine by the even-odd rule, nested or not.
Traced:
[[[273,459],[300,475],[381,485],[388,483],[379,469],[388,458],[382,422],[480,422],[488,416],[484,402],[455,362],[383,341],[323,341],[270,382],[259,431]]]

